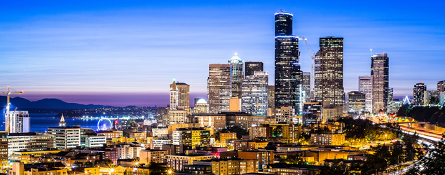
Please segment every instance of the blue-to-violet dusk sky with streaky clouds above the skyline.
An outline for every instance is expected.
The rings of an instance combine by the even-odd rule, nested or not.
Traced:
[[[358,76],[370,76],[370,48],[373,55],[390,55],[389,87],[396,98],[412,97],[416,83],[435,90],[445,73],[440,69],[445,26],[438,22],[444,14],[439,8],[409,10],[410,3],[381,4],[378,9],[388,13],[376,15],[362,3],[343,2],[301,7],[203,3],[200,8],[179,2],[167,8],[161,8],[163,3],[52,4],[57,10],[44,3],[20,8],[5,3],[0,7],[0,88],[25,90],[18,97],[32,101],[55,97],[81,104],[166,106],[173,78],[190,85],[191,99],[205,98],[208,65],[225,64],[234,52],[245,62],[263,62],[274,85],[273,14],[283,9],[293,13],[293,33],[308,38],[311,51],[318,50],[320,37],[345,38],[345,93],[358,90]],[[212,13],[202,16],[201,8]],[[8,13],[14,15],[7,18]],[[300,42],[299,50],[301,70],[310,72],[306,45]]]

